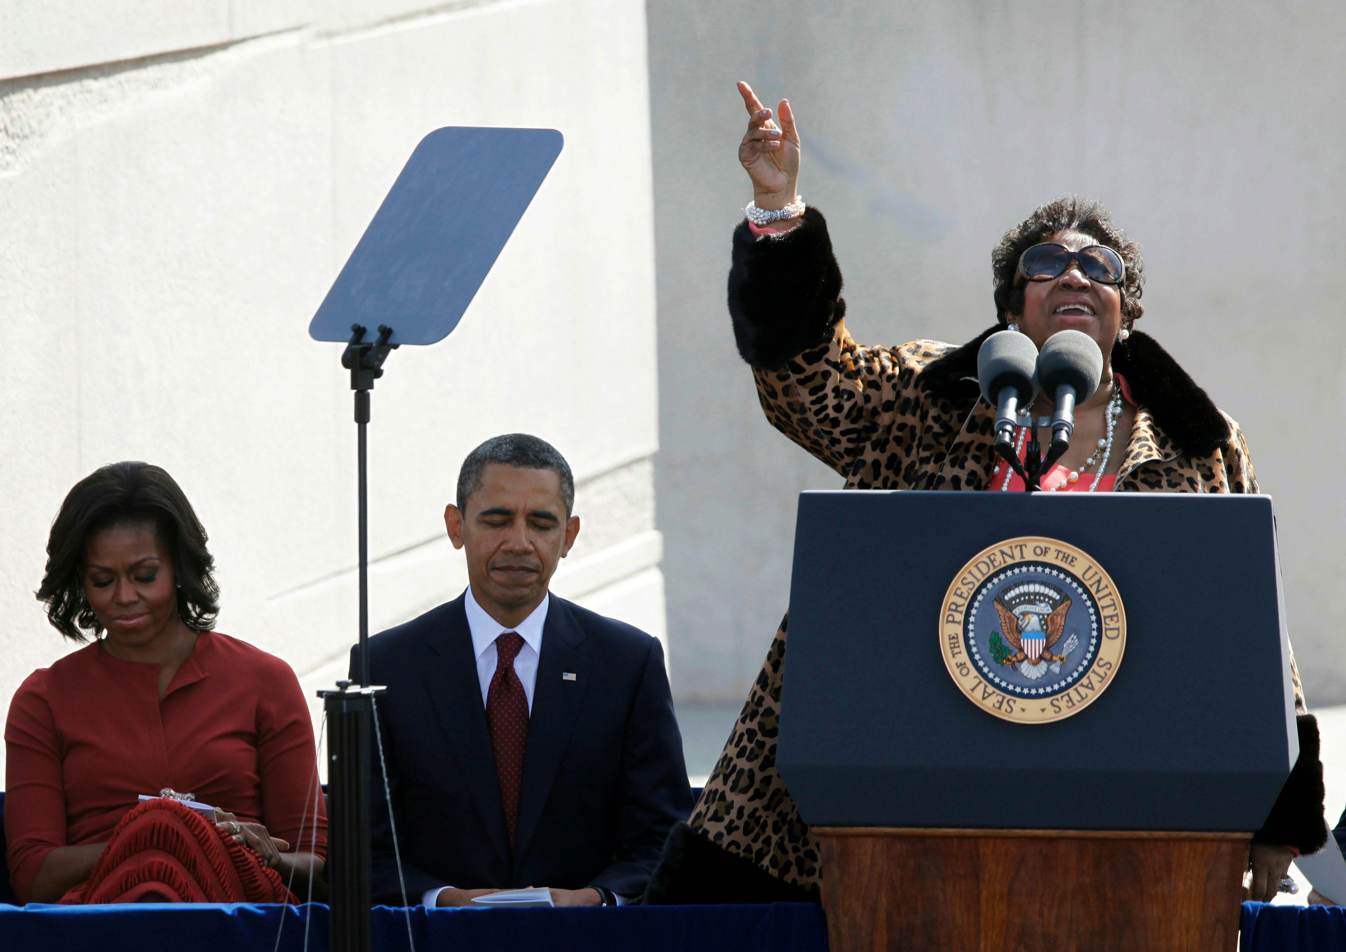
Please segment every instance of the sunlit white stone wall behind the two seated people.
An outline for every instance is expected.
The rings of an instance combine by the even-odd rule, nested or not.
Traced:
[[[306,689],[345,671],[355,427],[307,326],[444,125],[565,148],[456,333],[374,390],[371,625],[462,590],[458,466],[522,430],[580,481],[556,590],[662,637],[645,51],[638,0],[0,4],[0,700],[71,649],[32,597],[47,531],[118,459],[197,506],[219,630]]]

